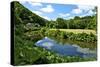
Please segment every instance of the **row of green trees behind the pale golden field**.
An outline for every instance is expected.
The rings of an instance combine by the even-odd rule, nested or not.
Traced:
[[[56,21],[49,21],[46,25],[49,28],[57,29],[96,29],[97,21],[96,14],[93,16],[79,17],[74,19],[57,18]]]

